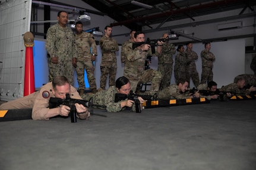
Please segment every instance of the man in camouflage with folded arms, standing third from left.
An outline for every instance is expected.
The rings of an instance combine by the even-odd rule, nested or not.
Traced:
[[[105,89],[109,75],[109,86],[115,85],[116,79],[116,53],[119,50],[118,43],[110,37],[112,27],[107,25],[104,29],[105,35],[100,39],[102,49],[102,63],[100,64],[100,88]]]

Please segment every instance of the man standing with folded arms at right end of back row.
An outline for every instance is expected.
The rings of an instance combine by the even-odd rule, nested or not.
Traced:
[[[201,84],[213,81],[213,62],[215,61],[214,54],[210,52],[211,43],[204,44],[205,49],[201,52],[202,58],[202,74]]]

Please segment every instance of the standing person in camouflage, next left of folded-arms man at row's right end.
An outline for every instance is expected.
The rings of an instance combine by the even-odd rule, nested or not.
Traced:
[[[195,86],[200,84],[199,75],[197,72],[197,67],[195,66],[195,60],[198,59],[197,53],[195,53],[192,48],[193,44],[188,42],[186,44],[187,49],[185,50],[185,56],[187,60],[187,69],[186,69],[186,79],[188,80],[188,86],[190,85],[190,79],[194,82]]]

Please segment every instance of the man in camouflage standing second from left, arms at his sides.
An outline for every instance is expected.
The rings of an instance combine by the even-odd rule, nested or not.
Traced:
[[[84,69],[86,69],[87,79],[90,85],[91,92],[97,92],[96,81],[94,77],[94,65],[93,61],[97,56],[96,42],[93,34],[83,32],[83,23],[77,21],[75,23],[75,43],[77,43],[77,66],[75,71],[77,72],[77,81],[79,85],[79,94],[84,93],[86,85],[84,84]],[[90,49],[91,48],[91,49]],[[92,51],[92,53],[91,53]]]

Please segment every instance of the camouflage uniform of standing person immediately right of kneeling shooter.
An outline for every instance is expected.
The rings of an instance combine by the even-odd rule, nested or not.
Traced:
[[[163,89],[170,85],[170,76],[172,76],[173,59],[172,54],[176,53],[174,44],[163,44],[162,54],[158,57],[157,70],[162,73],[160,88]]]

